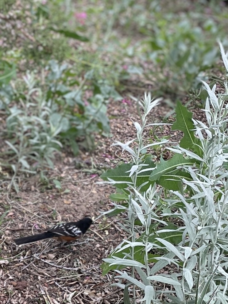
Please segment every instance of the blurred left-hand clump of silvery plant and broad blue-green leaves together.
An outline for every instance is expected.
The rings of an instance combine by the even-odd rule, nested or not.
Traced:
[[[91,73],[77,78],[73,67],[54,60],[45,73],[42,82],[27,72],[24,82],[0,89],[0,107],[6,113],[3,139],[8,145],[2,165],[15,174],[53,168],[55,152],[63,146],[77,155],[79,148],[94,148],[95,133],[109,133],[106,103],[109,97],[119,98],[113,87],[106,81],[93,85]],[[94,91],[91,97],[84,94],[88,86]]]

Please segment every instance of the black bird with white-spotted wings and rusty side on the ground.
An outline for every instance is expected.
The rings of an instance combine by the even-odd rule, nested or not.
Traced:
[[[20,237],[19,239],[15,239],[14,242],[17,245],[21,245],[48,239],[51,237],[64,243],[72,242],[86,233],[91,224],[91,218],[84,217],[77,222],[69,222],[53,226],[44,233],[31,235],[29,237]]]

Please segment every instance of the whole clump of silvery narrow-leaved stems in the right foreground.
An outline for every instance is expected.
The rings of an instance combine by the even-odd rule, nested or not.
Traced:
[[[228,72],[228,60],[221,44],[220,48]],[[156,192],[155,184],[143,193],[140,191],[143,185],[136,187],[138,173],[152,170],[143,164],[140,152],[153,145],[144,146],[143,132],[148,110],[157,101],[152,102],[150,96],[145,95],[141,103],[144,109],[142,125],[135,123],[137,139],[133,140],[138,145],[132,149],[129,147],[131,142],[116,143],[132,155],[134,163],[129,172],[132,183],[128,183],[128,206],[114,205],[127,211],[128,221],[122,227],[130,237],[112,252],[110,258],[105,259],[111,269],[115,266],[116,279],[119,279],[116,285],[124,288],[124,303],[161,303],[162,296],[177,304],[228,302],[228,86],[226,83],[225,92],[216,95],[215,86],[210,89],[207,83],[203,84],[208,93],[205,106],[207,123],[193,120],[200,153],[180,146],[169,148],[195,160],[192,165],[181,166],[191,180],[182,178],[183,189],[170,191],[171,197],[162,201],[162,205],[170,206],[167,210],[171,212],[158,215],[161,190]],[[109,183],[116,184],[111,179]],[[174,217],[179,217],[183,224],[178,229],[166,228],[168,223],[164,219]],[[140,226],[136,225],[136,219]],[[155,222],[163,226],[157,237],[156,231],[151,229]],[[181,233],[182,240],[176,245],[166,235],[177,232]],[[151,263],[151,252],[159,253],[153,257],[153,261],[157,261],[155,264]],[[161,270],[168,264],[173,266],[172,272],[163,274]],[[131,273],[128,268],[121,270],[126,267],[131,268]],[[161,283],[167,284],[167,288],[163,289]],[[136,295],[137,289],[141,291],[140,296]]]

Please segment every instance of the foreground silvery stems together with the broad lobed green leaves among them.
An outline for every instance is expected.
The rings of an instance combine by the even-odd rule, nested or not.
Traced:
[[[228,72],[222,45],[221,53]],[[204,83],[204,87],[207,123],[192,120],[184,106],[177,106],[173,128],[183,131],[184,137],[179,146],[168,148],[175,153],[171,160],[161,160],[157,167],[145,161],[145,150],[167,142],[147,145],[143,138],[145,127],[154,125],[147,123],[147,114],[158,103],[145,95],[141,125],[134,123],[137,138],[116,142],[131,154],[133,163],[102,175],[117,188],[111,196],[117,203],[105,214],[127,212],[120,225],[128,238],[102,265],[103,274],[115,271],[114,285],[124,290],[124,303],[228,300],[228,84],[217,96],[215,86],[211,89]],[[162,177],[164,192],[156,190],[155,183]]]

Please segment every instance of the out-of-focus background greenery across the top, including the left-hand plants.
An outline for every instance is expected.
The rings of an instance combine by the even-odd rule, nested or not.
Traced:
[[[33,172],[109,136],[110,100],[150,90],[174,106],[223,83],[223,1],[1,1],[4,165]],[[208,77],[209,75],[209,77]],[[138,93],[139,92],[139,93]],[[9,157],[10,155],[10,157]]]

